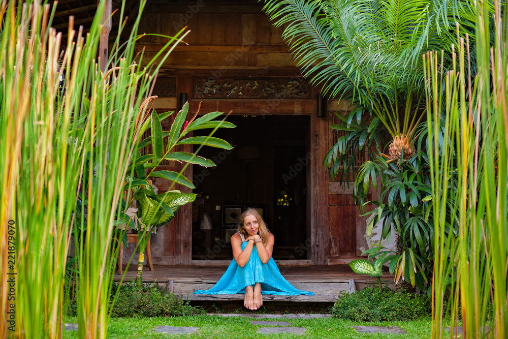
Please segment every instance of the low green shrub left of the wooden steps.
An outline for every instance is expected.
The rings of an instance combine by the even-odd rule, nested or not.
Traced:
[[[113,309],[111,303],[116,291],[120,289]],[[70,300],[68,314],[76,316],[75,300]],[[122,285],[114,283],[110,297],[112,317],[178,317],[203,314],[203,310],[189,305],[178,296],[170,293],[160,285],[143,283],[136,286],[134,281]]]

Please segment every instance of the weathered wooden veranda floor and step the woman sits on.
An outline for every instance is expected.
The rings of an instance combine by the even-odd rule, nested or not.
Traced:
[[[154,265],[150,271],[143,270],[143,282],[157,282],[168,288],[184,300],[243,300],[243,294],[233,295],[198,295],[196,290],[211,288],[223,275],[228,266],[224,265]],[[279,264],[279,270],[293,286],[300,290],[312,291],[315,295],[277,296],[264,295],[265,301],[291,302],[333,302],[337,300],[340,291],[354,292],[366,286],[376,286],[377,279],[353,272],[349,265],[312,265],[312,266],[284,266]],[[135,279],[135,266],[129,267],[125,273],[125,280]],[[121,279],[115,274],[115,281]],[[381,282],[383,286],[394,288],[394,276],[384,272]]]

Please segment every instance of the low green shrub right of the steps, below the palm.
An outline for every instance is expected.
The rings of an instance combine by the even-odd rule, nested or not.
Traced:
[[[331,312],[340,319],[364,322],[415,320],[430,316],[430,299],[416,293],[394,292],[388,287],[366,287],[349,294],[340,292]]]

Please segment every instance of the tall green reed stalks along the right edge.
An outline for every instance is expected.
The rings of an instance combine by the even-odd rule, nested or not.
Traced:
[[[424,55],[433,208],[439,215],[433,338],[446,336],[445,324],[462,326],[464,338],[508,335],[507,5],[497,0],[475,5],[474,54],[469,37],[459,37],[457,28],[453,69],[446,77],[437,75],[441,54]],[[452,180],[457,192],[450,202]]]

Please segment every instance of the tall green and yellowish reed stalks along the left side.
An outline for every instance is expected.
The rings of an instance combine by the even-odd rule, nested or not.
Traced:
[[[132,140],[150,116],[158,68],[184,34],[168,40],[156,56],[159,64],[153,59],[141,67],[143,55],[134,50],[138,16],[124,43],[120,29],[101,72],[96,56],[103,8],[101,2],[86,36],[70,19],[60,53],[61,34],[51,28],[55,7],[1,4],[0,312],[15,316],[11,323],[8,317],[0,321],[0,337],[61,337],[65,269],[78,213],[86,221],[76,242],[79,337],[106,337],[118,248],[115,215],[124,207],[120,195]],[[122,18],[123,12],[122,6]],[[86,215],[76,208],[78,199],[87,202]]]

